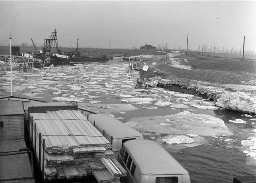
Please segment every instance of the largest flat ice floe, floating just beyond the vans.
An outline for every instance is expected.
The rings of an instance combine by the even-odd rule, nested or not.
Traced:
[[[137,131],[154,133],[188,133],[204,136],[232,135],[223,120],[210,115],[194,114],[189,111],[167,116],[132,118],[125,124]]]

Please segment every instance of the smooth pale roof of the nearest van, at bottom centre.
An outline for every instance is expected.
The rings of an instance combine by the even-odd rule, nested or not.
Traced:
[[[189,174],[169,152],[153,140],[129,140],[123,146],[144,175]]]

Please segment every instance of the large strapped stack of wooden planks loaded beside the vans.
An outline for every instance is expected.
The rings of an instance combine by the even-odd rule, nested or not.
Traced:
[[[127,176],[114,159],[110,142],[79,111],[30,113],[29,125],[30,138],[45,180],[93,174],[99,182],[111,182]]]

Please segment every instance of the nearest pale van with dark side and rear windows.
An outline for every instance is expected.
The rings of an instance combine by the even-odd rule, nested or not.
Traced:
[[[190,183],[189,172],[152,140],[129,140],[119,153],[127,171],[122,183]]]

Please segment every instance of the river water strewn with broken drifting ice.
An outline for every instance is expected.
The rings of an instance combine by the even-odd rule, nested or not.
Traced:
[[[0,76],[2,98],[10,95],[10,72],[1,72]],[[232,183],[235,176],[256,174],[255,158],[246,157],[243,153],[250,146],[241,145],[242,140],[255,136],[252,128],[255,116],[217,107],[206,109],[214,103],[162,88],[135,90],[139,71],[128,72],[127,63],[33,68],[27,73],[14,71],[12,77],[13,96],[66,102],[96,113],[109,114],[142,133],[145,139],[155,140],[186,168],[192,183]],[[191,105],[206,108],[198,109]],[[177,120],[184,111],[188,116],[192,113],[198,117],[191,120],[183,116]],[[143,120],[153,120],[153,117],[157,121],[156,130],[143,126]],[[193,122],[198,125],[197,120],[208,119],[211,120],[205,122],[207,125],[217,124],[211,126],[215,131],[209,132],[207,125],[206,129],[201,126],[201,132],[194,129]],[[230,122],[236,119],[245,123]],[[188,127],[191,130],[180,124],[183,120],[191,121]],[[221,126],[220,133],[217,133],[218,125]],[[191,138],[194,143],[167,144],[162,140],[175,135],[186,136],[187,133],[195,135]]]

